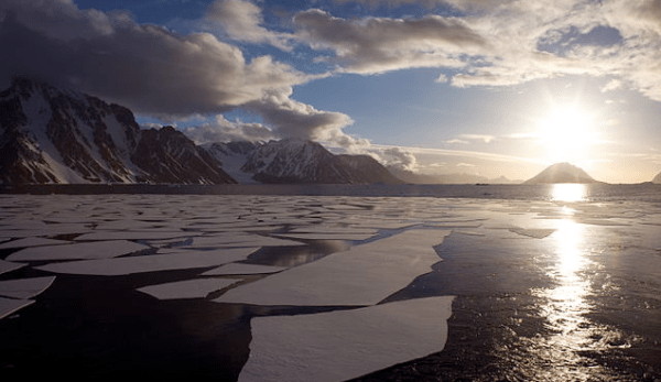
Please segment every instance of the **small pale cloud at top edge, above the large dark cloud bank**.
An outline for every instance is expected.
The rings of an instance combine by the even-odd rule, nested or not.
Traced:
[[[235,41],[267,43],[291,51],[290,34],[277,33],[261,26],[264,22],[261,9],[246,0],[216,0],[207,9],[207,21],[221,28]]]

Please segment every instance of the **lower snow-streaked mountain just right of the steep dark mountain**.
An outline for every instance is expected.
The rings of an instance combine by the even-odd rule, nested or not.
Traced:
[[[335,155],[305,140],[212,143],[204,148],[240,183],[402,183],[371,156]]]

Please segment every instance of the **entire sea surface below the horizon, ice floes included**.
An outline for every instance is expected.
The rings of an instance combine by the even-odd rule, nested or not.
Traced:
[[[0,378],[661,381],[661,187],[305,189],[0,195]]]

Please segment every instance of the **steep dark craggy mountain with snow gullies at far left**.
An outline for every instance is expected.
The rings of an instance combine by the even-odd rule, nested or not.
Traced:
[[[121,106],[45,83],[0,92],[0,183],[235,183],[173,128],[140,130]]]

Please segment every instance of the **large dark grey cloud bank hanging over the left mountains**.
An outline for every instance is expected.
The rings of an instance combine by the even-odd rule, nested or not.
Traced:
[[[283,41],[259,26],[259,8],[248,1],[216,1],[207,17],[234,20],[226,31],[235,37],[247,33],[242,39],[251,42]],[[239,47],[210,33],[181,35],[138,24],[126,12],[80,10],[71,0],[3,0],[0,52],[0,83],[37,77],[164,120],[240,108],[267,124],[218,120],[197,130],[202,135],[355,143],[342,131],[353,123],[348,116],[290,99],[293,86],[325,74],[308,75],[268,55],[248,62]]]

